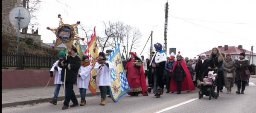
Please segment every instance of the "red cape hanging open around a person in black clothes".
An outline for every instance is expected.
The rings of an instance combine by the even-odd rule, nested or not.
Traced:
[[[174,71],[176,64],[177,64],[177,61],[175,61],[175,63],[174,63],[172,72]],[[181,91],[187,91],[187,90],[194,91],[195,85],[190,76],[189,69],[186,67],[185,61],[181,61],[180,65],[186,72],[186,77],[184,78],[184,82],[181,82]],[[174,78],[171,77],[170,91],[177,92],[178,91],[177,82],[175,82],[173,79]]]

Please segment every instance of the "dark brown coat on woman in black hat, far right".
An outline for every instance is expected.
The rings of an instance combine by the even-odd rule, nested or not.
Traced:
[[[240,64],[242,64],[240,66]],[[240,60],[238,58],[234,64],[236,67],[236,79],[242,80],[242,81],[248,81],[248,75],[245,74],[245,70],[248,70],[248,67],[250,66],[249,60],[247,58],[244,58],[243,60]]]

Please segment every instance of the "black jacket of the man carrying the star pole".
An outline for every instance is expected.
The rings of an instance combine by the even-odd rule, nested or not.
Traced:
[[[69,69],[64,69],[65,66],[61,64],[62,61],[58,63],[58,66],[63,68],[61,70],[61,81],[64,82],[64,75],[66,70],[66,82],[76,83],[78,71],[81,67],[81,59],[75,54],[67,57],[67,61],[67,65],[70,66]]]

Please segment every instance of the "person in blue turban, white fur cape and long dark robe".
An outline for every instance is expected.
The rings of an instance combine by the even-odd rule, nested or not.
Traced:
[[[154,44],[156,53],[154,54],[150,66],[153,67],[154,75],[154,94],[157,98],[163,94],[163,72],[166,64],[166,53],[162,50],[163,46],[160,43]]]

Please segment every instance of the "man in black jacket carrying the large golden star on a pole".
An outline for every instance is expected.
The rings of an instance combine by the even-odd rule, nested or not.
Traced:
[[[67,57],[67,60],[64,59],[63,61],[58,63],[58,66],[62,68],[61,70],[61,81],[64,82],[64,74],[66,70],[66,82],[65,82],[65,89],[67,91],[67,95],[64,101],[64,106],[62,107],[63,110],[68,109],[68,105],[70,100],[73,102],[73,105],[70,107],[76,107],[78,101],[76,99],[76,94],[73,90],[73,85],[76,83],[78,71],[81,67],[81,59],[79,56],[76,55],[77,49],[76,46],[72,46],[71,54]]]

